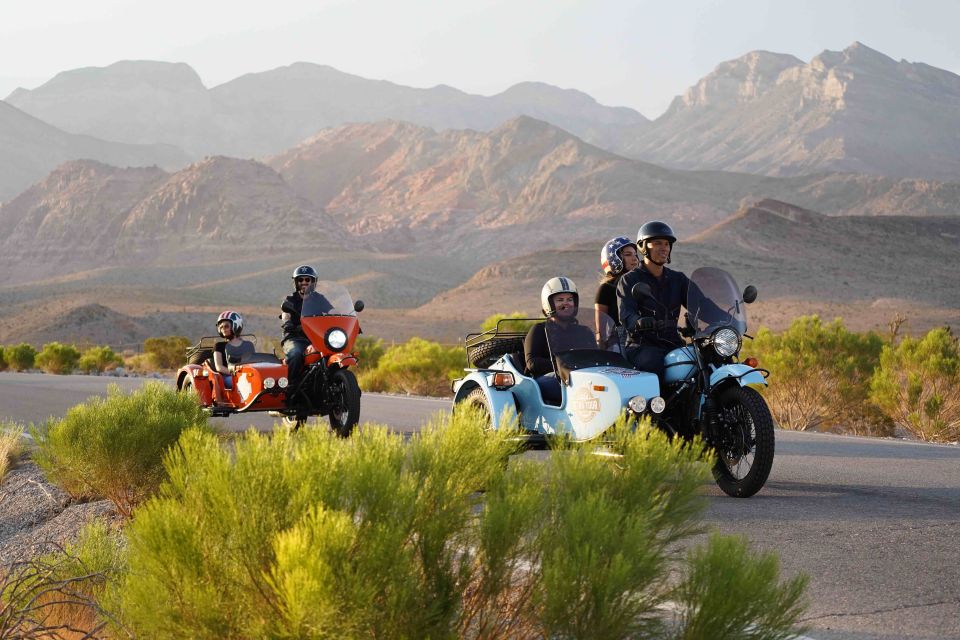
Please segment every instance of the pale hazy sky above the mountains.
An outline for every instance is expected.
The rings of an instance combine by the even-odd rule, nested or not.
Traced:
[[[960,73],[955,0],[0,0],[0,97],[117,60],[210,87],[296,61],[490,95],[524,80],[656,117],[719,62],[855,40]]]

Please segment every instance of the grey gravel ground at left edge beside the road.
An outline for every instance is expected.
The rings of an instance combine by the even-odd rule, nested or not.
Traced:
[[[76,540],[95,519],[120,521],[109,500],[77,502],[22,460],[0,484],[0,568]]]

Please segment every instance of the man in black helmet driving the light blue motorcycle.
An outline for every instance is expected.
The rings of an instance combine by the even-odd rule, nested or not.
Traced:
[[[670,225],[659,220],[647,222],[637,234],[643,262],[620,278],[617,301],[620,322],[627,330],[627,358],[637,369],[663,377],[663,357],[683,346],[677,332],[680,307],[687,302],[690,280],[680,271],[668,269],[677,236]],[[634,299],[633,286],[645,282],[653,298]]]

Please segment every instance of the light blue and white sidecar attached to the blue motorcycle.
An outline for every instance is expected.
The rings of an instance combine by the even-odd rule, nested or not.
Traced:
[[[545,321],[559,398],[545,399],[537,381],[525,374],[525,333],[506,330],[516,322],[501,320],[494,330],[467,336],[467,356],[476,368],[454,381],[454,405],[480,408],[494,429],[516,416],[531,447],[545,446],[551,436],[591,440],[623,411],[636,416],[663,411],[657,376],[633,369],[620,354],[606,314],[584,309],[570,319]]]

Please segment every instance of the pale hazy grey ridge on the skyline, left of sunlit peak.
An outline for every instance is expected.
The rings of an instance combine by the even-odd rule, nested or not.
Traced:
[[[491,129],[518,115],[612,144],[647,119],[575,90],[526,82],[494,96],[406,87],[298,62],[207,89],[184,63],[121,61],[64,71],[10,104],[55,126],[129,143],[176,145],[194,158],[278,153],[347,122],[404,120],[437,129]]]

